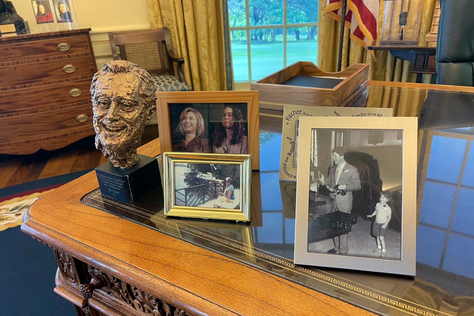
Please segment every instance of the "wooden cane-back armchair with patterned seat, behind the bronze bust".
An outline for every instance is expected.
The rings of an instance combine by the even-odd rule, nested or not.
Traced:
[[[117,46],[123,60],[136,63],[148,71],[155,81],[156,91],[191,91],[186,83],[182,64],[184,59],[176,57],[171,48],[167,28],[132,32],[109,33],[110,46],[114,60],[118,60]],[[174,64],[177,63],[178,75]]]

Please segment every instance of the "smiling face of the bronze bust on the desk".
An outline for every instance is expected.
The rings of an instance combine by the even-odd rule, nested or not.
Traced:
[[[100,142],[110,151],[133,146],[145,127],[145,104],[138,95],[138,80],[131,73],[106,73],[98,78],[93,125]]]

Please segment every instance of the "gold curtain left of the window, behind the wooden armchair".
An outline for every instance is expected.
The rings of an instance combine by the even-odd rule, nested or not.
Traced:
[[[221,0],[148,0],[152,29],[170,30],[173,52],[195,91],[226,90]]]

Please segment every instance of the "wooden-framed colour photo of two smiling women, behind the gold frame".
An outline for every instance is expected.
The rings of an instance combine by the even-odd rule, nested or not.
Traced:
[[[258,91],[156,94],[162,151],[251,154],[259,170]]]

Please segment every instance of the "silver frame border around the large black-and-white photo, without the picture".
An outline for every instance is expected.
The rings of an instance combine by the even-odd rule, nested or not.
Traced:
[[[296,187],[295,264],[342,268],[362,271],[415,275],[416,269],[416,173],[417,117],[301,117],[300,144],[309,144],[311,130],[402,130],[402,200],[401,200],[401,260],[357,257],[349,254],[313,253],[308,251],[310,224],[310,146],[299,147]],[[357,225],[357,224],[355,224]],[[349,233],[349,241],[350,241]],[[367,232],[370,236],[370,232]]]

